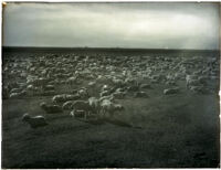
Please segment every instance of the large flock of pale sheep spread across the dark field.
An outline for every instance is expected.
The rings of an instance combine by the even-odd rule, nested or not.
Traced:
[[[126,97],[148,98],[147,89],[165,85],[162,95],[213,93],[219,82],[215,57],[101,56],[48,54],[3,59],[3,99],[50,96],[39,107],[45,114],[69,113],[75,118],[110,118],[125,110]],[[67,93],[61,94],[62,86]],[[168,88],[169,86],[169,88]],[[45,117],[24,114],[32,128],[49,125]]]

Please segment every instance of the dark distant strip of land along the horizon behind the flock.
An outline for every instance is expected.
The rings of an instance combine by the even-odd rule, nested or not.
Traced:
[[[122,49],[122,47],[20,47],[2,46],[3,53],[74,53],[90,55],[170,55],[170,56],[219,56],[219,50],[168,50],[168,49]]]

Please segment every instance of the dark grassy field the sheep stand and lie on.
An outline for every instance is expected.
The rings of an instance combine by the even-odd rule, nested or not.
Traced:
[[[77,52],[20,51],[3,53],[3,68],[11,63],[25,63],[41,56],[57,54],[56,62],[66,55]],[[158,55],[167,59],[182,56],[191,59],[196,53],[128,53],[96,52],[96,54],[114,55],[128,59]],[[217,54],[202,53],[200,59],[218,57]],[[96,57],[98,59],[98,55]],[[96,62],[96,57],[94,61]],[[50,61],[50,57],[46,57]],[[71,61],[72,57],[69,57]],[[140,62],[140,61],[138,61]],[[161,61],[166,63],[167,61]],[[67,62],[69,63],[69,62]],[[112,61],[110,61],[112,63]],[[19,65],[20,65],[19,64]],[[61,64],[62,65],[62,64]],[[106,64],[107,65],[107,64]],[[112,65],[112,64],[110,64]],[[124,64],[123,64],[124,65]],[[219,65],[219,63],[218,63]],[[87,65],[88,66],[88,65]],[[140,66],[140,65],[139,65]],[[138,67],[139,67],[138,66]],[[10,67],[10,66],[9,66]],[[3,71],[3,85],[21,82],[27,76],[11,71],[25,70],[25,66],[11,66]],[[136,65],[131,64],[131,67]],[[118,72],[120,73],[120,66]],[[199,67],[198,67],[199,68]],[[138,68],[137,68],[138,70]],[[193,68],[190,71],[193,72]],[[197,70],[197,68],[196,68]],[[83,72],[83,71],[82,71]],[[138,72],[138,71],[137,71]],[[173,74],[176,70],[166,70]],[[156,71],[154,74],[157,74]],[[160,72],[161,73],[161,72]],[[39,74],[39,73],[38,73]],[[110,73],[109,73],[110,74]],[[92,79],[70,87],[65,83],[54,84],[55,94],[69,94],[73,89],[86,86]],[[165,95],[164,89],[171,85],[164,81],[141,79],[151,88],[144,88],[148,97],[135,97],[129,92],[124,99],[116,103],[125,107],[124,111],[98,123],[76,119],[70,111],[46,114],[41,102],[50,103],[53,95],[24,95],[2,100],[2,168],[217,168],[220,160],[220,123],[219,123],[219,74],[209,81],[210,93],[194,93],[186,87],[183,78],[177,78],[179,93]],[[98,97],[98,84],[91,93]],[[4,91],[4,89],[3,89]],[[4,92],[3,92],[4,93]],[[32,129],[22,121],[22,115],[43,115],[49,125]]]

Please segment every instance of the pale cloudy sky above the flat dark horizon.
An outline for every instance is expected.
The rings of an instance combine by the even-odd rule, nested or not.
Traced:
[[[7,3],[3,46],[219,49],[218,3]]]

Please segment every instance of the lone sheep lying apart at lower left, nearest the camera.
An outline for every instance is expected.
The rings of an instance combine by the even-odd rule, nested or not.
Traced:
[[[28,123],[31,128],[38,128],[49,125],[43,116],[31,117],[29,114],[22,116],[22,121]]]

